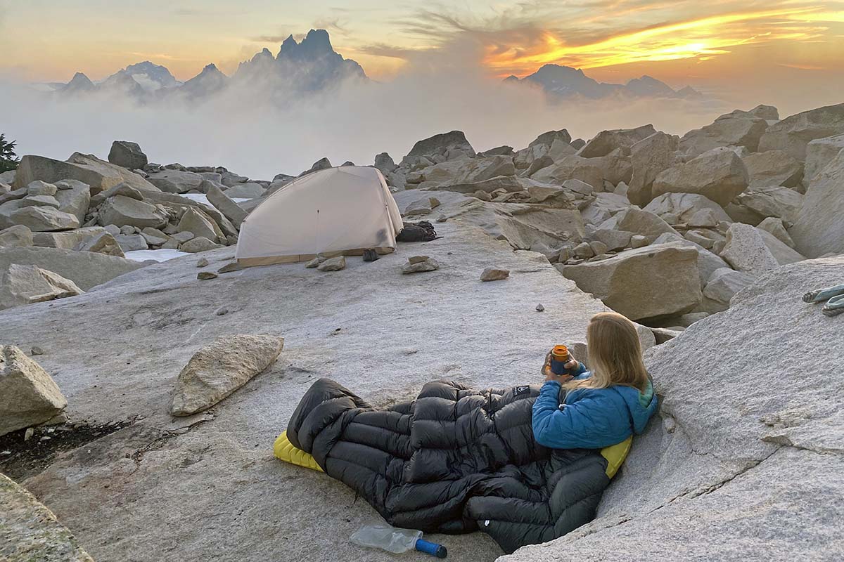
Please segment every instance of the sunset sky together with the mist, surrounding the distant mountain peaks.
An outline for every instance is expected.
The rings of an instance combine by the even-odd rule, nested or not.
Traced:
[[[383,151],[400,157],[419,139],[453,129],[478,149],[524,146],[561,128],[589,138],[652,123],[683,135],[731,110],[767,104],[786,117],[841,103],[844,91],[844,59],[837,56],[844,52],[842,2],[490,7],[468,0],[459,8],[423,8],[418,0],[365,0],[338,8],[317,0],[295,10],[269,0],[237,8],[224,0],[48,4],[0,0],[7,55],[0,99],[17,108],[3,132],[19,151],[57,158],[77,150],[103,156],[122,138],[148,147],[157,161],[213,160],[263,176],[306,169],[324,156],[358,163]],[[284,85],[241,81],[200,103],[154,105],[105,94],[61,102],[31,94],[33,83],[67,83],[76,72],[99,83],[146,61],[181,82],[208,64],[232,76],[262,49],[276,56],[287,37],[301,41],[309,29],[326,29],[334,51],[359,63],[378,87],[338,81],[331,95],[300,96]],[[560,103],[538,88],[502,87],[506,76],[524,78],[545,64],[576,68],[599,83],[649,76],[703,96]],[[274,103],[276,94],[288,97],[283,106]],[[381,126],[385,115],[389,126]]]

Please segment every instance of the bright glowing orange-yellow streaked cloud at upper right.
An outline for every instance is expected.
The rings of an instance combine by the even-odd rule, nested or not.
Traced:
[[[545,30],[541,40],[521,45],[488,45],[484,65],[500,76],[525,74],[547,63],[570,67],[609,67],[630,62],[660,62],[728,54],[730,47],[775,40],[815,40],[827,30],[823,23],[841,21],[844,13],[820,8],[779,8],[727,13],[571,45],[559,33]]]

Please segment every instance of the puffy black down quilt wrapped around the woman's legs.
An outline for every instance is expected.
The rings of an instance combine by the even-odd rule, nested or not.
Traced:
[[[322,378],[287,436],[392,525],[481,530],[509,554],[591,521],[609,484],[599,451],[533,440],[538,394],[538,385],[473,390],[439,381],[412,402],[375,409]]]

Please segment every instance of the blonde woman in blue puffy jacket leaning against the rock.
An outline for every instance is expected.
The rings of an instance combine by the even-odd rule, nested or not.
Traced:
[[[641,358],[636,326],[618,313],[599,313],[587,328],[589,365],[572,358],[571,375],[555,375],[545,359],[545,383],[533,403],[533,436],[555,449],[600,449],[641,433],[657,410]],[[560,403],[560,390],[565,398]]]

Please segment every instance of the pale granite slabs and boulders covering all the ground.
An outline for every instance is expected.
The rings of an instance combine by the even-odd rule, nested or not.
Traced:
[[[46,508],[0,481],[0,559],[392,560],[349,542],[378,520],[352,490],[273,458],[306,388],[383,407],[436,379],[541,383],[608,307],[647,324],[659,415],[594,522],[501,560],[844,559],[844,314],[801,298],[844,282],[842,138],[844,104],[521,150],[451,131],[375,158],[441,238],[248,269],[241,222],[327,158],[262,180],[127,141],[24,156],[0,174],[0,387],[22,397],[0,388],[0,472]]]

